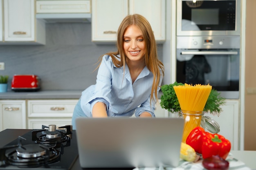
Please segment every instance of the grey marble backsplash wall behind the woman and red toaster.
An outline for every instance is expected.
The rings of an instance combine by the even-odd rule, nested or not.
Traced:
[[[162,60],[162,44],[157,48]],[[95,63],[110,51],[115,44],[91,42],[90,23],[48,23],[46,45],[0,45],[0,75],[10,76],[8,91],[14,74],[38,75],[41,90],[83,90],[95,84]]]

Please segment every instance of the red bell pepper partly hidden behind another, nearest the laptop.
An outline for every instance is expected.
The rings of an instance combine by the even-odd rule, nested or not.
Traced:
[[[207,133],[204,131],[204,128],[200,126],[195,127],[186,138],[186,144],[190,145],[195,152],[202,154],[203,138]]]

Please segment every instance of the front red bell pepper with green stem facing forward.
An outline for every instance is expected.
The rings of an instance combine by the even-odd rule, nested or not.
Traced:
[[[202,157],[203,159],[213,155],[219,155],[226,159],[231,149],[231,143],[222,135],[208,133],[204,136],[202,142]]]

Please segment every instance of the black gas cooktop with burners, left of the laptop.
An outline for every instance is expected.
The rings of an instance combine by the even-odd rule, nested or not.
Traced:
[[[78,158],[71,125],[34,129],[0,148],[0,170],[69,170]]]

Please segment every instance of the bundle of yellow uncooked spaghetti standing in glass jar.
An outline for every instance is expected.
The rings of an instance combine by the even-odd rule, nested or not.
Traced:
[[[211,93],[212,86],[190,85],[173,86],[180,103],[182,116],[184,118],[184,130],[182,142],[186,143],[186,138],[195,127],[200,126],[204,106]]]

